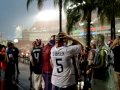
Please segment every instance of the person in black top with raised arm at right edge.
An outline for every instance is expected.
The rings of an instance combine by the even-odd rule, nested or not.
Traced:
[[[120,36],[113,41],[110,47],[114,53],[115,90],[120,90]]]

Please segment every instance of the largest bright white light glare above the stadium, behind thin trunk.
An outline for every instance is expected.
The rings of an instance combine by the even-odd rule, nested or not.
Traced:
[[[65,19],[64,12],[62,12],[62,18]],[[41,11],[35,16],[35,20],[37,20],[37,21],[59,20],[59,10],[58,9],[51,9],[51,10]]]

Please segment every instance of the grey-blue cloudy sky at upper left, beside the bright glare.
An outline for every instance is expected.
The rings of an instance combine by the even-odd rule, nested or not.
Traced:
[[[53,1],[46,0],[42,9],[53,8]],[[30,28],[35,22],[33,17],[39,12],[36,2],[31,3],[29,11],[26,0],[0,0],[0,32],[4,38],[14,39],[18,25]]]

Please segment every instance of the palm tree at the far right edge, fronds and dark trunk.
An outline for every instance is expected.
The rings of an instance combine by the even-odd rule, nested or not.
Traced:
[[[116,38],[115,34],[115,17],[120,16],[120,1],[119,0],[99,0],[98,1],[98,16],[100,16],[101,23],[107,21],[111,25],[111,39]]]

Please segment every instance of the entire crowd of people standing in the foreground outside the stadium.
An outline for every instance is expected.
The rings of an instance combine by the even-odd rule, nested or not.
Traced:
[[[80,90],[120,90],[120,37],[106,43],[104,35],[98,34],[88,47],[60,32],[52,35],[46,45],[41,39],[36,39],[32,46],[31,89],[78,90],[78,82],[83,81]],[[11,86],[12,79],[15,80],[15,64],[17,74],[20,73],[17,68],[18,53],[11,42],[7,47],[0,45],[0,81],[3,84],[0,88],[4,88],[4,84]]]

